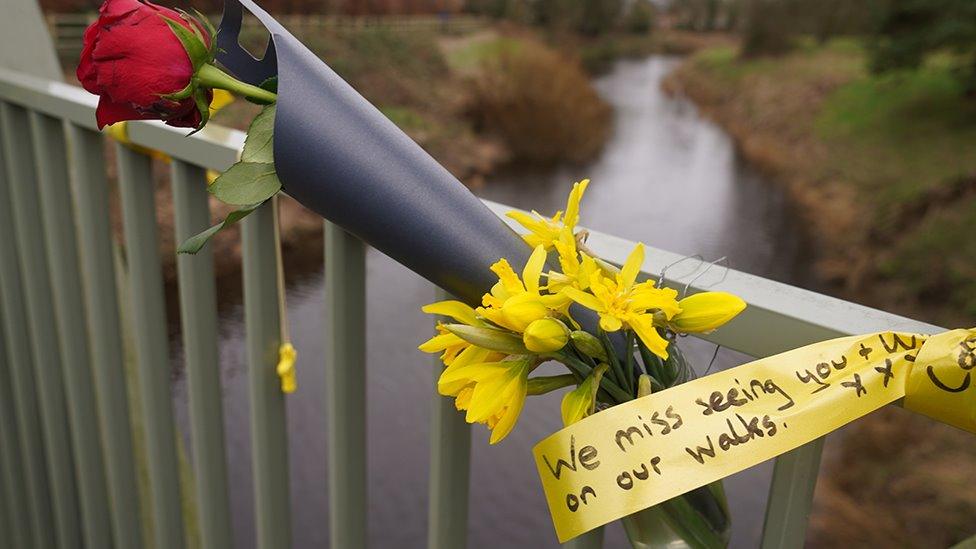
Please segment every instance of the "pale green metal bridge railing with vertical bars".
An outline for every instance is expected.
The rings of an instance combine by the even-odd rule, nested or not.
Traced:
[[[0,69],[0,539],[14,547],[142,545],[130,414],[145,425],[156,547],[184,544],[176,430],[150,158],[116,146],[128,287],[117,287],[109,185],[96,98],[80,88]],[[159,123],[128,127],[136,145],[172,157],[175,238],[209,224],[205,170],[236,161],[244,134],[208,126],[192,137]],[[509,209],[488,204],[501,214]],[[244,304],[252,411],[256,539],[290,546],[284,395],[275,373],[279,337],[272,211],[243,221]],[[333,547],[366,540],[365,246],[325,223],[329,354],[329,497]],[[592,233],[588,245],[622,263],[632,242]],[[660,273],[679,256],[653,250]],[[233,545],[221,387],[217,370],[213,254],[177,258],[193,469],[203,547]],[[681,278],[669,285],[684,286]],[[695,284],[692,281],[692,288]],[[754,357],[842,335],[940,331],[749,274],[730,271],[722,289],[749,307],[705,339]],[[123,368],[120,292],[134,333],[141,399],[130,409]],[[341,321],[340,321],[341,320]],[[96,398],[97,396],[97,398]],[[434,394],[429,547],[463,547],[467,535],[470,430]],[[823,440],[780,456],[762,545],[801,547]],[[526,462],[526,466],[531,466]],[[108,512],[106,512],[106,510]],[[599,547],[602,532],[568,545]]]

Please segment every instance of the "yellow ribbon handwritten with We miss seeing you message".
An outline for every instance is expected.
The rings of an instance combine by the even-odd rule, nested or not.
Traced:
[[[533,449],[560,542],[886,404],[976,433],[976,329],[832,339],[614,406]]]

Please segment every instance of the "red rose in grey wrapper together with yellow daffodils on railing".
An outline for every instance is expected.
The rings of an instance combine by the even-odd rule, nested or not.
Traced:
[[[237,44],[242,6],[271,31],[261,60]],[[85,33],[77,74],[99,96],[99,128],[155,119],[197,132],[219,90],[262,105],[240,161],[208,187],[238,209],[179,251],[197,252],[287,188],[459,298],[424,308],[451,322],[439,324],[420,348],[441,353],[446,368],[438,390],[455,398],[469,422],[486,424],[492,443],[511,432],[528,395],[572,387],[561,410],[569,425],[692,379],[675,336],[714,330],[745,306],[720,292],[679,299],[672,289],[638,280],[641,244],[619,268],[592,254],[586,232],[576,230],[588,181],[573,186],[566,211],[552,218],[510,213],[529,231],[523,243],[248,0],[225,6],[219,34],[198,12],[106,0]],[[291,392],[295,352],[287,341],[280,355],[282,389]],[[532,376],[550,360],[567,373]],[[729,520],[721,483],[628,517],[625,525],[635,546],[675,540],[723,546]]]

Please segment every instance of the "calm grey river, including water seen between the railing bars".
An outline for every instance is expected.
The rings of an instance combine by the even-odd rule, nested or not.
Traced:
[[[782,193],[745,165],[729,136],[694,105],[661,91],[662,79],[678,61],[657,55],[620,61],[597,79],[599,92],[614,108],[615,126],[592,163],[502,174],[478,193],[551,214],[562,209],[573,181],[589,177],[582,221],[589,228],[708,260],[726,256],[736,269],[803,283],[803,249]],[[420,306],[434,299],[434,291],[372,250],[367,284],[370,546],[423,547],[434,363],[416,346],[432,331]],[[287,296],[299,352],[299,389],[288,397],[295,547],[325,547],[329,502],[321,274],[289,288]],[[220,367],[235,541],[250,548],[254,500],[242,317],[242,309],[235,308],[221,318]],[[704,370],[714,347],[691,338],[682,344],[699,372]],[[176,355],[179,361],[178,349]],[[722,350],[712,368],[746,360]],[[174,399],[185,428],[182,372],[174,380]],[[561,427],[559,399],[558,394],[529,399],[515,431],[496,446],[488,445],[486,430],[474,429],[469,547],[557,546],[530,450]],[[772,464],[765,463],[726,481],[733,547],[758,545],[771,470]],[[606,542],[606,547],[626,546],[618,524],[607,527]]]

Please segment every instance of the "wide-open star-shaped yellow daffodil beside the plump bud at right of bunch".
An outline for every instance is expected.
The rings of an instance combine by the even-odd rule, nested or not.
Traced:
[[[670,320],[681,311],[670,288],[655,288],[653,281],[636,282],[644,263],[644,245],[637,244],[623,268],[613,278],[602,271],[590,277],[590,291],[566,287],[562,292],[580,305],[600,315],[600,327],[615,332],[623,327],[633,330],[654,354],[667,358],[668,342],[654,327],[654,314]]]

